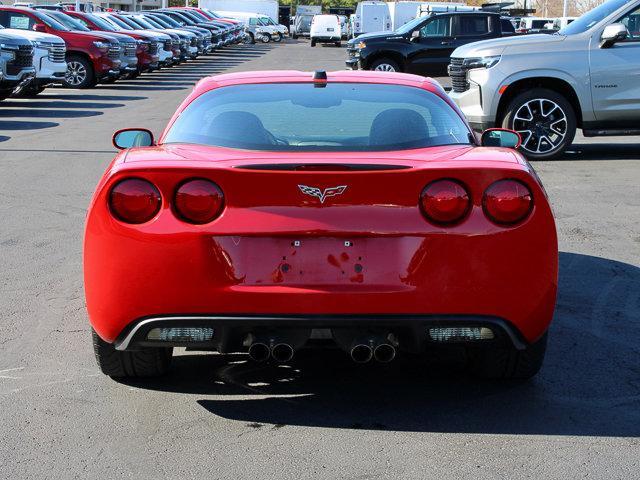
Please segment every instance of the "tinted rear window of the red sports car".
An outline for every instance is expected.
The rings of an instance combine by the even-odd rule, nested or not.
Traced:
[[[249,150],[383,151],[469,144],[465,123],[425,90],[330,83],[236,85],[196,98],[164,143]]]

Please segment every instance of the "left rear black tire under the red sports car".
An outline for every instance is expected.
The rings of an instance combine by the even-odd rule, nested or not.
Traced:
[[[96,361],[105,375],[113,378],[159,377],[169,369],[173,348],[145,347],[123,352],[102,340],[93,329],[91,335]]]

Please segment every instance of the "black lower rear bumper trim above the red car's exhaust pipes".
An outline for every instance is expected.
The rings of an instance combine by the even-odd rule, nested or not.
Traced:
[[[438,342],[429,334],[430,328],[485,327],[495,338],[489,340],[457,340]],[[149,340],[147,335],[154,328],[211,328],[213,337],[208,341],[158,341]],[[445,316],[445,315],[313,315],[313,316],[228,316],[228,315],[174,315],[142,318],[132,322],[116,339],[117,350],[135,350],[140,347],[172,346],[193,348],[215,348],[219,352],[242,349],[243,339],[248,334],[277,331],[289,336],[296,332],[302,336],[300,345],[308,340],[321,337],[335,339],[341,332],[392,332],[398,339],[400,349],[419,353],[430,345],[489,344],[508,343],[522,350],[527,341],[509,322],[496,317]],[[349,335],[350,333],[347,333]],[[356,334],[357,335],[357,334]]]

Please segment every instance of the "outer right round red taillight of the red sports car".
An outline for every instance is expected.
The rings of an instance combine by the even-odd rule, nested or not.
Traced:
[[[492,222],[513,225],[529,216],[533,195],[529,187],[518,180],[498,180],[484,192],[482,208]]]

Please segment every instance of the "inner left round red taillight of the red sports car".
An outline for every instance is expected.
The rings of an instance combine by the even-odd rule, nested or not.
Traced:
[[[178,187],[174,199],[178,216],[189,223],[209,223],[222,212],[224,195],[210,180],[196,178]]]

